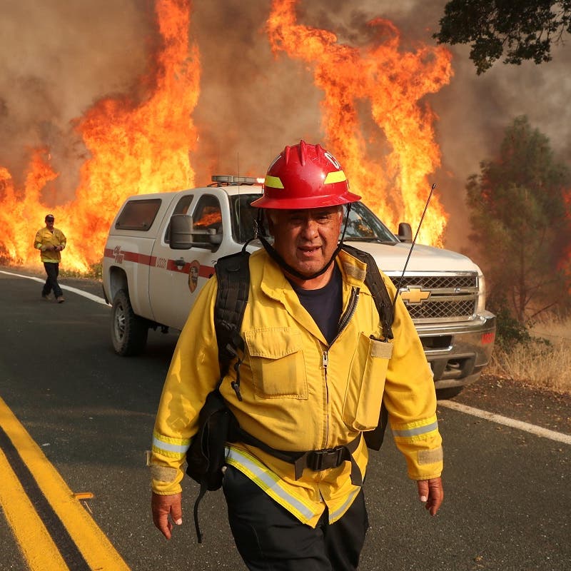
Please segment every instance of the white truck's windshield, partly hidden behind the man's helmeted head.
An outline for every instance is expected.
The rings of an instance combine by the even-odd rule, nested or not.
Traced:
[[[259,194],[231,196],[232,236],[238,243],[253,237],[257,209],[250,205]],[[343,231],[343,228],[341,228]],[[267,228],[263,235],[268,236]],[[362,202],[351,205],[345,241],[396,243],[398,238]]]

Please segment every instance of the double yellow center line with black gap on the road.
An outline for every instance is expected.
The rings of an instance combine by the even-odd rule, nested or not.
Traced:
[[[129,571],[1,398],[0,505],[31,571]]]

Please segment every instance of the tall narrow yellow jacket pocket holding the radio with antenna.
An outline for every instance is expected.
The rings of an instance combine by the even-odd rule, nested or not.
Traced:
[[[392,354],[391,343],[360,333],[343,403],[343,422],[353,430],[373,430],[378,425]]]

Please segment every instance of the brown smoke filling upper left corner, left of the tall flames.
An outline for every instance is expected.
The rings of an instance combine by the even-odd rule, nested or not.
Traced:
[[[33,148],[48,148],[59,202],[73,196],[86,149],[72,121],[132,89],[146,65],[148,15],[131,0],[11,0],[0,19],[0,165],[16,186]],[[50,194],[49,189],[46,192]]]

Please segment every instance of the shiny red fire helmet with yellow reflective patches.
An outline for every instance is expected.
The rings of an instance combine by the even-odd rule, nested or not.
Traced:
[[[273,159],[256,208],[320,208],[356,202],[337,159],[319,145],[300,141]]]

